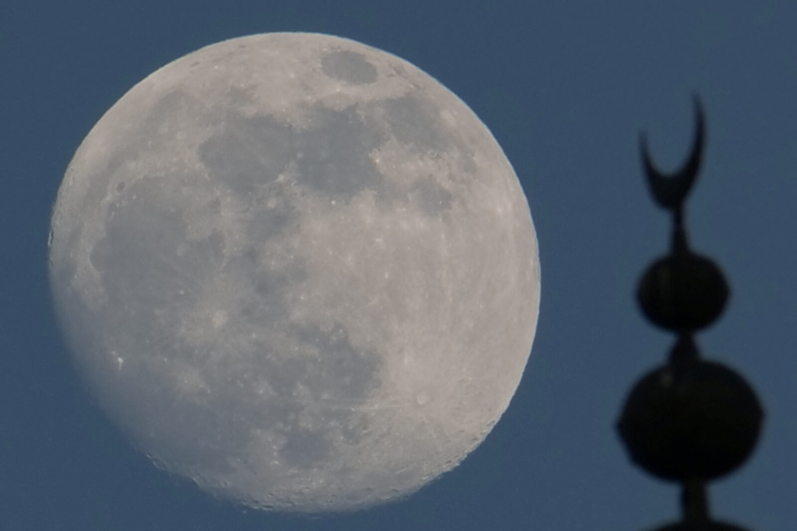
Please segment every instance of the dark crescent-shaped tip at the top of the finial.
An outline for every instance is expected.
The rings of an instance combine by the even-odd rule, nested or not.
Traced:
[[[689,159],[680,170],[672,174],[659,171],[650,160],[647,139],[644,132],[639,135],[639,146],[642,150],[642,165],[645,166],[647,182],[655,201],[665,209],[676,209],[683,204],[689,190],[697,179],[700,170],[703,146],[705,144],[705,123],[700,96],[693,95],[697,128]]]

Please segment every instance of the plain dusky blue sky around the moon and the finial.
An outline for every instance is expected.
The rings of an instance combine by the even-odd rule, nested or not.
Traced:
[[[0,527],[114,529],[646,529],[677,490],[634,468],[614,431],[627,390],[671,338],[634,304],[668,243],[637,135],[662,168],[705,104],[689,199],[693,247],[732,284],[698,338],[767,412],[756,455],[712,488],[713,513],[792,529],[797,510],[797,6],[791,2],[253,2],[0,4]],[[155,469],[80,383],[55,324],[49,216],[96,120],[163,64],[230,37],[313,31],[406,59],[480,116],[515,167],[540,240],[542,305],[520,388],[465,462],[402,502],[286,517],[241,510]]]

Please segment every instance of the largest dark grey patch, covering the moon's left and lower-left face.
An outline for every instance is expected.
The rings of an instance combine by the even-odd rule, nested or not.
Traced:
[[[218,232],[187,240],[179,194],[176,180],[132,182],[112,206],[106,235],[92,248],[90,260],[108,296],[103,318],[111,320],[109,326],[124,326],[126,341],[144,346],[137,353],[139,362],[125,365],[125,374],[135,370],[138,376],[117,385],[131,395],[142,394],[140,386],[145,386],[147,400],[136,408],[149,415],[132,410],[123,415],[139,417],[139,436],[157,434],[152,436],[159,459],[202,463],[214,473],[234,471],[225,456],[245,453],[255,431],[280,441],[275,451],[286,467],[312,468],[336,459],[340,444],[356,444],[367,432],[358,408],[379,385],[379,356],[352,344],[340,324],[288,323],[290,348],[273,346],[268,337],[235,339],[284,322],[284,290],[305,272],[294,264],[295,271],[264,273],[258,264],[268,257],[253,250],[224,260]],[[282,213],[273,216],[275,225],[285,221]],[[268,224],[269,217],[261,221]],[[193,310],[212,313],[213,301],[203,287],[218,275],[250,283],[252,296],[230,315],[228,328],[218,330],[218,340],[198,346],[180,330],[196,326],[185,321]],[[217,357],[218,349],[231,350]],[[198,371],[206,387],[180,396],[171,378],[179,377],[174,370],[181,366]],[[261,398],[256,390],[264,383],[271,392]],[[159,405],[176,402],[179,416]],[[236,413],[241,411],[244,416]]]

